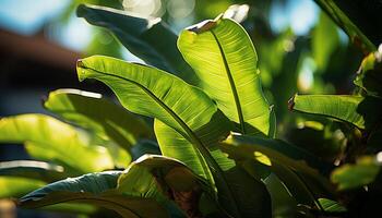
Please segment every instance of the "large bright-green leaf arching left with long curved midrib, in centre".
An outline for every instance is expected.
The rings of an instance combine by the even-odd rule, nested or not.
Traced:
[[[132,112],[156,118],[155,131],[162,152],[181,158],[212,187],[216,182],[219,199],[229,213],[238,217],[261,213],[267,216],[270,202],[260,198],[268,197],[267,192],[254,180],[251,183],[247,180],[246,184],[251,185],[252,193],[256,190],[256,195],[253,193],[241,208],[237,203],[239,198],[242,202],[248,198],[241,181],[250,178],[216,148],[216,143],[228,134],[229,122],[201,89],[160,70],[106,57],[81,60],[77,72],[81,81],[91,77],[106,83]],[[168,152],[177,148],[181,152],[174,155]]]

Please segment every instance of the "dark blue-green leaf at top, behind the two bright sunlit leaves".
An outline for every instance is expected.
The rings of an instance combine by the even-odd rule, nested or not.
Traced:
[[[79,5],[76,13],[88,23],[111,31],[129,51],[146,63],[196,83],[192,69],[176,47],[177,35],[159,17],[139,17],[127,11],[85,4]]]

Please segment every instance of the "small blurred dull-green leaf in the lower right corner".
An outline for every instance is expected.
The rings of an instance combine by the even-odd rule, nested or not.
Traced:
[[[336,168],[332,172],[331,180],[338,185],[338,190],[361,187],[373,182],[380,169],[381,164],[374,157],[365,156],[356,164],[346,164]]]

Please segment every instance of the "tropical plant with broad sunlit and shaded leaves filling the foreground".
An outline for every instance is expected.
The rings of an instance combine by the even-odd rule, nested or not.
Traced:
[[[313,116],[276,138],[256,51],[234,20],[240,10],[177,36],[159,19],[80,5],[79,16],[110,29],[150,65],[79,60],[79,80],[105,83],[122,107],[59,89],[44,100],[56,118],[2,118],[0,142],[23,143],[39,161],[1,162],[8,189],[0,197],[121,217],[347,217],[378,209],[382,49],[361,63],[353,95],[295,95],[289,110]]]

